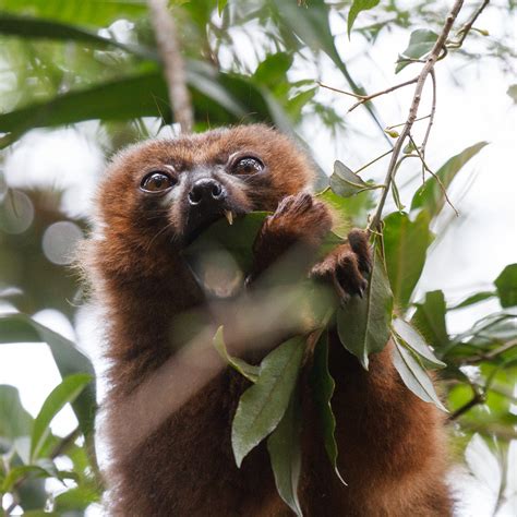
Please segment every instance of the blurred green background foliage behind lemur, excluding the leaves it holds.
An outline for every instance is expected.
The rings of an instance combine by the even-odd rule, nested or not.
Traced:
[[[345,134],[353,139],[358,128],[347,125],[336,103],[322,96],[317,84],[325,67],[333,67],[347,89],[363,92],[362,77],[350,74],[336,43],[346,41],[335,27],[346,25],[351,2],[300,3],[170,2],[187,60],[195,131],[261,121],[275,124],[309,149],[311,132],[320,128],[336,140]],[[413,1],[410,7],[384,1],[360,14],[352,37],[374,48],[380,35],[395,27],[438,31],[447,9],[447,2],[440,1]],[[509,0],[493,9],[512,15],[515,4]],[[483,35],[473,32],[469,37],[481,40]],[[401,50],[404,47],[396,49]],[[510,34],[484,38],[479,52],[515,76]],[[460,69],[477,60],[479,52],[461,47],[455,65]],[[387,145],[390,139],[374,106],[364,109],[372,139]],[[25,515],[43,510],[94,515],[93,504],[100,501],[103,489],[92,435],[91,361],[72,341],[31,317],[55,309],[76,324],[82,294],[69,264],[74,244],[89,227],[87,212],[77,208],[59,183],[8,184],[3,164],[37,129],[51,135],[73,128],[95,141],[104,156],[110,156],[137,140],[167,135],[171,122],[145,1],[0,0],[0,342],[19,342],[20,347],[48,344],[62,376],[36,417],[23,408],[15,387],[0,386],[0,493],[8,515],[22,510]],[[444,164],[438,171],[442,179],[450,183],[483,145]],[[325,172],[320,187],[326,184],[330,171]],[[91,181],[95,183],[95,177]],[[458,450],[467,450],[467,462],[478,476],[479,465],[469,447],[473,435],[474,440],[483,437],[486,454],[500,465],[496,512],[510,497],[505,483],[517,469],[516,454],[509,454],[509,444],[517,437],[517,266],[508,265],[493,279],[491,289],[471,292],[459,303],[449,303],[441,290],[418,293],[416,286],[435,238],[433,231],[440,239],[443,230],[436,226],[444,205],[441,195],[428,180],[424,194],[416,196],[406,212],[387,215],[388,273],[399,312],[412,317],[447,363],[443,392],[454,418],[452,434]],[[344,215],[345,227],[364,226],[375,206],[372,191],[349,197],[347,203],[330,192],[326,199]],[[401,268],[408,272],[404,277],[397,276]],[[498,300],[496,312],[472,320],[461,334],[447,329],[449,313],[489,299]],[[50,422],[68,404],[72,404],[77,428],[59,436],[51,432]]]

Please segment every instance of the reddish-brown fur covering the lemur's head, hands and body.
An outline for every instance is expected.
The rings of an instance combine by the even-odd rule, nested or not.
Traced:
[[[308,194],[297,195],[310,185],[312,167],[285,136],[250,125],[147,142],[116,157],[100,185],[101,235],[87,243],[85,263],[107,308],[111,368],[105,408],[112,464],[106,478],[111,515],[291,515],[276,493],[264,445],[244,459],[241,469],[235,465],[231,421],[249,383],[228,368],[211,370],[202,389],[167,413],[134,447],[120,437],[124,430],[139,426],[132,397],[177,357],[170,345],[173,316],[205,303],[181,257],[184,212],[178,200],[167,209],[149,205],[139,189],[142,177],[164,165],[182,175],[196,166],[215,170],[238,151],[257,154],[266,173],[228,180],[236,212],[275,211],[286,196],[294,195],[264,224],[255,243],[253,279],[294,242],[315,249],[332,224],[324,205]],[[313,273],[333,277],[344,294],[356,296],[363,287],[368,257],[364,238],[351,235],[350,245],[338,249]],[[330,345],[338,462],[348,486],[339,483],[329,466],[310,392],[304,390],[300,484],[304,515],[449,515],[440,412],[404,386],[389,346],[371,358],[365,372],[337,336],[332,336]],[[155,404],[160,404],[158,398]],[[154,414],[156,407],[148,410]]]

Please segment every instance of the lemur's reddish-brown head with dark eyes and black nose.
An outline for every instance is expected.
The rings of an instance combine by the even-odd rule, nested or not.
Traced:
[[[151,141],[113,160],[99,190],[100,216],[143,248],[182,245],[220,217],[274,211],[311,180],[303,153],[264,125]]]

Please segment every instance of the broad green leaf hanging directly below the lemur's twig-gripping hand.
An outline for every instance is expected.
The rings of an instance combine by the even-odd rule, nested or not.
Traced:
[[[345,348],[368,370],[369,354],[380,352],[389,338],[393,294],[377,247],[364,297],[351,297],[337,311],[337,332]]]

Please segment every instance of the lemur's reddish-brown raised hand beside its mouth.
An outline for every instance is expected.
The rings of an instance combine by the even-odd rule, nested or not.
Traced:
[[[315,253],[330,228],[328,208],[311,194],[285,197],[276,212],[264,220],[255,239],[255,262],[250,279],[256,278],[293,244],[303,245],[308,255]]]

